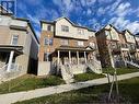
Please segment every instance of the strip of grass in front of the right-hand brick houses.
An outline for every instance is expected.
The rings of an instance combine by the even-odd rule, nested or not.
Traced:
[[[131,72],[138,72],[139,69],[137,68],[116,68],[117,69],[117,74],[125,74],[125,73],[131,73]],[[113,74],[114,73],[114,69],[113,68],[108,68],[108,73]],[[106,73],[107,69],[104,68],[103,72]]]

